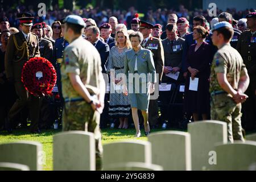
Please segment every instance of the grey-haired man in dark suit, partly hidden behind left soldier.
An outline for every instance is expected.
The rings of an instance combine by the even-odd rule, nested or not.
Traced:
[[[86,36],[88,41],[98,50],[101,56],[102,73],[106,73],[106,64],[109,57],[109,45],[100,40],[100,30],[96,26],[88,27],[86,30]],[[108,75],[104,74],[104,80],[106,85],[108,84]],[[108,123],[108,97],[109,94],[105,94],[104,109],[101,114],[100,127],[105,128]]]

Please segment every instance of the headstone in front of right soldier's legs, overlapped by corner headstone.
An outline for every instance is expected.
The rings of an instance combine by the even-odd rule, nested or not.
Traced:
[[[191,134],[192,170],[209,170],[214,165],[214,144],[228,142],[227,124],[221,121],[200,121],[188,124]]]

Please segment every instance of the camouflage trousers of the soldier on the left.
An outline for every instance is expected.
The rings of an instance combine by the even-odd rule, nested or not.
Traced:
[[[66,102],[63,114],[63,131],[82,130],[94,133],[96,140],[96,170],[102,169],[100,113],[93,111],[85,101]]]

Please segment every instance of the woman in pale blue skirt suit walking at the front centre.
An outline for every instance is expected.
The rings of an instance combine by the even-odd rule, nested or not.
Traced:
[[[150,101],[150,93],[154,92],[154,83],[156,82],[154,60],[151,51],[141,47],[143,40],[141,32],[131,33],[129,39],[132,49],[125,52],[123,94],[129,96],[131,113],[136,129],[135,137],[141,137],[138,109],[142,112],[145,135],[148,136],[150,134],[148,104]],[[149,75],[151,77],[149,77]],[[129,92],[127,90],[126,78],[128,78]]]

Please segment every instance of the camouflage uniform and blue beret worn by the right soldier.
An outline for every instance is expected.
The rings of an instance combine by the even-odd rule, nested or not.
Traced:
[[[228,22],[220,22],[214,25],[217,30],[221,27],[231,27]],[[229,84],[233,89],[238,89],[240,77],[246,75],[247,69],[242,57],[230,44],[224,44],[215,53],[210,73],[210,118],[224,121],[228,125],[228,140],[244,140],[241,126],[241,103],[237,104],[232,96],[224,91],[218,84],[217,73],[226,73]]]

